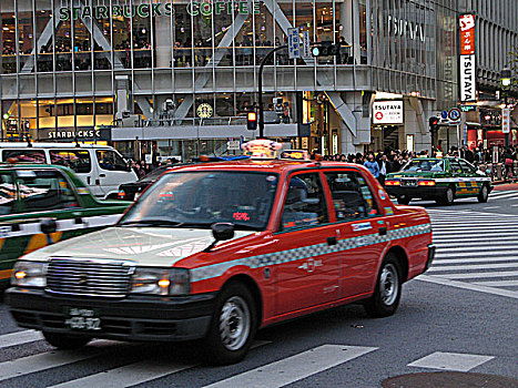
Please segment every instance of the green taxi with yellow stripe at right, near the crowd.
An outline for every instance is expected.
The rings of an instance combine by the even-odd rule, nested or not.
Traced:
[[[455,198],[470,196],[487,202],[492,186],[490,177],[464,159],[417,157],[387,174],[385,188],[402,205],[413,198],[451,205]]]

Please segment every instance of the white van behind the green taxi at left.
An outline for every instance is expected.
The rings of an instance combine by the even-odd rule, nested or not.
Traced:
[[[72,169],[101,198],[116,198],[119,185],[138,176],[109,145],[81,143],[0,143],[0,162],[59,164]]]

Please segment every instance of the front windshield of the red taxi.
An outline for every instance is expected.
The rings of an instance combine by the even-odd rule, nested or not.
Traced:
[[[255,172],[175,172],[162,176],[119,226],[266,228],[278,176]]]

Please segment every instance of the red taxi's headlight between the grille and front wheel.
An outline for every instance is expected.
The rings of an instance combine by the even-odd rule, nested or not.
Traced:
[[[148,295],[187,295],[191,292],[189,269],[136,268],[131,293]]]

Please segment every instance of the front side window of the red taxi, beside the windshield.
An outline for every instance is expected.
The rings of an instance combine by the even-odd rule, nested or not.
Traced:
[[[322,182],[317,173],[298,174],[290,178],[286,201],[284,202],[282,228],[315,226],[327,223]]]

